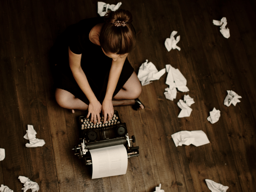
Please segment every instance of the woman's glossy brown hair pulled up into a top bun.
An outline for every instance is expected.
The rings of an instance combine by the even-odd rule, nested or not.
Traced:
[[[123,55],[132,52],[136,42],[136,32],[132,26],[132,14],[129,11],[119,9],[108,11],[104,16],[99,41],[106,53]],[[125,22],[125,26],[116,27],[116,21]]]

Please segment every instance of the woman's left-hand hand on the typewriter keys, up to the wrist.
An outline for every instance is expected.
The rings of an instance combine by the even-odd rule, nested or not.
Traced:
[[[95,100],[90,102],[88,106],[87,118],[89,118],[89,116],[91,115],[91,122],[96,124],[98,120],[98,123],[100,123],[100,111],[101,111],[100,101]]]

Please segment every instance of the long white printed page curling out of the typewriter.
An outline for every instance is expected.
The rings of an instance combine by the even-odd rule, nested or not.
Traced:
[[[92,179],[124,175],[127,170],[127,151],[124,145],[92,149]]]

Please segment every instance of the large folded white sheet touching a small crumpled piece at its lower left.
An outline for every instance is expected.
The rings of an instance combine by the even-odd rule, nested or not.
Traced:
[[[166,84],[169,88],[177,87],[181,92],[188,92],[187,79],[181,74],[179,69],[173,68],[171,65],[165,65],[166,71],[168,72],[166,77]]]

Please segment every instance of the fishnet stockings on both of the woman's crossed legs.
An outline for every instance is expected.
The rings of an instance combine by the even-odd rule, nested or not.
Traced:
[[[135,72],[124,84],[123,88],[115,95],[112,100],[113,106],[119,105],[133,105],[134,99],[138,98],[141,94],[142,88],[140,80]],[[88,105],[80,99],[76,98],[72,93],[57,88],[55,91],[55,99],[60,107],[67,109],[87,110]]]

